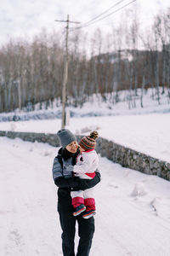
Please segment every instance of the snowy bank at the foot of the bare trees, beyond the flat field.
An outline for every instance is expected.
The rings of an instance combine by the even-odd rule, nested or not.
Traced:
[[[137,95],[134,91],[129,95],[128,90],[118,91],[116,102],[116,93],[93,95],[88,98],[88,102],[84,102],[83,106],[74,108],[73,99],[69,98],[70,106],[67,106],[67,111],[71,117],[94,117],[94,116],[115,116],[115,115],[131,115],[131,114],[146,114],[146,113],[170,113],[170,98],[167,88],[162,94],[160,88],[160,101],[158,103],[156,90],[137,90]],[[141,108],[141,94],[143,94],[143,108]],[[130,101],[129,98],[132,98]],[[45,102],[37,103],[34,111],[30,111],[31,107],[25,108],[19,112],[19,109],[12,113],[0,113],[0,122],[18,121],[30,119],[60,119],[61,118],[60,100],[49,102],[48,109]],[[27,112],[29,110],[29,112]]]

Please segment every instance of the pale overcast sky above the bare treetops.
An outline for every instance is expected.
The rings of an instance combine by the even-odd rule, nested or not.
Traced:
[[[6,43],[9,38],[28,37],[37,34],[46,28],[47,31],[58,30],[64,24],[54,20],[66,20],[67,14],[70,20],[87,22],[95,16],[109,9],[120,0],[0,0],[0,44]],[[123,0],[114,11],[132,0]],[[159,9],[170,7],[169,0],[136,0],[127,8],[134,9],[138,4],[139,18],[146,24]],[[111,12],[110,11],[110,12]],[[111,15],[105,20],[96,22],[88,29],[110,26],[111,23],[120,19],[123,11]]]

